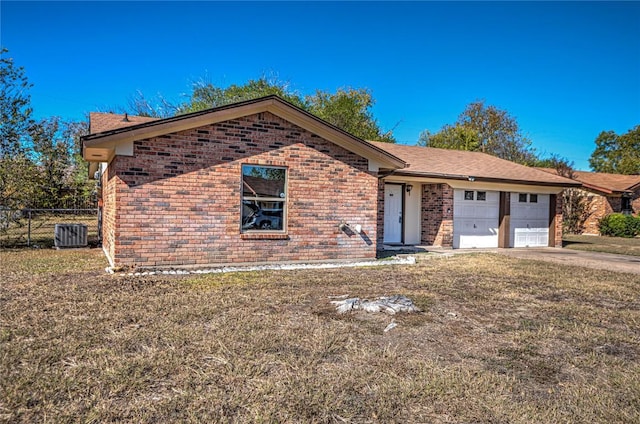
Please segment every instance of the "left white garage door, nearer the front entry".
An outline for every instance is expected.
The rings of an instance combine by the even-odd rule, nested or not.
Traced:
[[[453,248],[498,247],[500,193],[453,192]]]

